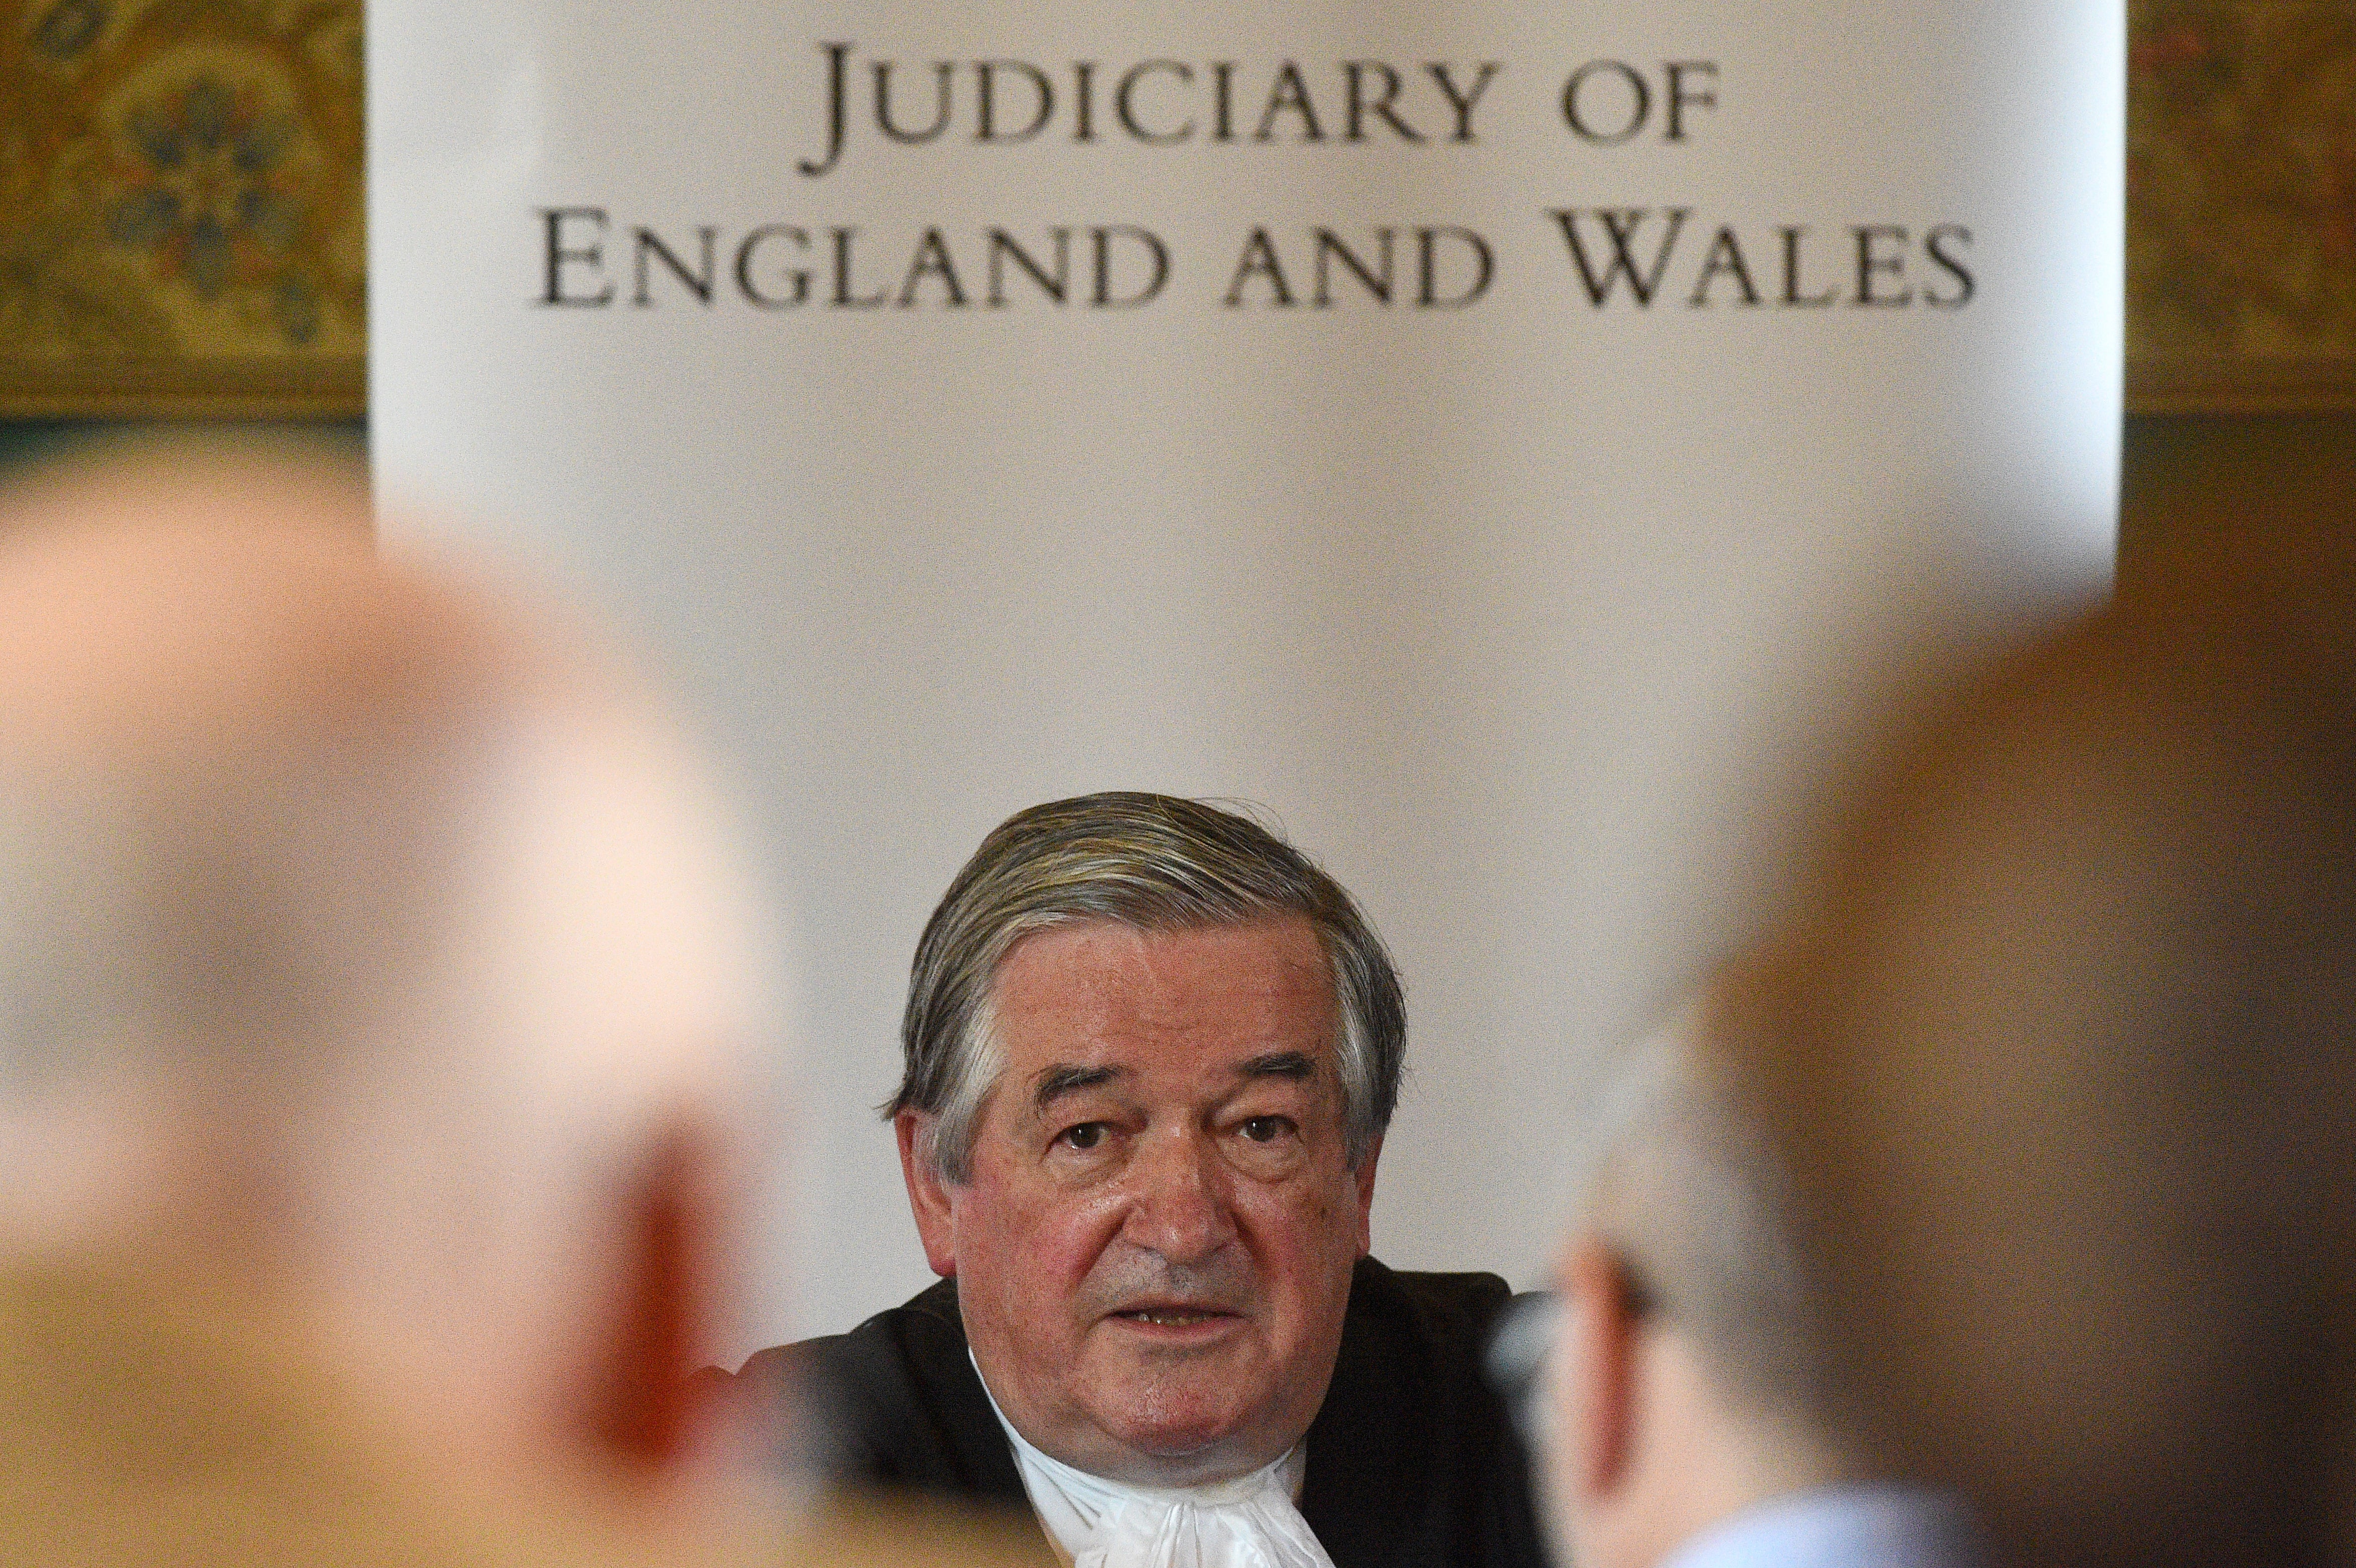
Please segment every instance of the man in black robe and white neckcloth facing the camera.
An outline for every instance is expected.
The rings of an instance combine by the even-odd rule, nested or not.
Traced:
[[[933,911],[891,1104],[945,1283],[801,1363],[855,1479],[1037,1511],[1084,1568],[1531,1563],[1484,1274],[1366,1257],[1404,1010],[1260,826],[1105,793]]]

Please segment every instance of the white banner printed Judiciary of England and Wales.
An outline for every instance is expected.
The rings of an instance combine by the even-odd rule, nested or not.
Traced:
[[[1272,810],[1409,982],[1378,1253],[1527,1283],[1597,1048],[1772,895],[1892,650],[2109,574],[2120,0],[375,0],[368,49],[379,483],[634,619],[789,895],[770,1340],[926,1281],[872,1107],[1008,812]]]

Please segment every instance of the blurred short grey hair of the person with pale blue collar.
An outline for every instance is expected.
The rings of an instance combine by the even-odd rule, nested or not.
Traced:
[[[1640,1041],[1590,1128],[1588,1229],[1637,1276],[1729,1403],[1824,1427],[1816,1302],[1791,1170],[1725,1050],[1732,989]]]

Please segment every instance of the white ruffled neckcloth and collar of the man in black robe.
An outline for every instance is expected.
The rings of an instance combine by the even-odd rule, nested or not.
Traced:
[[[980,1370],[975,1361],[975,1377]],[[1032,1511],[1070,1568],[1333,1568],[1293,1507],[1308,1469],[1303,1443],[1232,1481],[1129,1486],[1041,1453],[1006,1420],[987,1377],[982,1396],[1013,1443]]]

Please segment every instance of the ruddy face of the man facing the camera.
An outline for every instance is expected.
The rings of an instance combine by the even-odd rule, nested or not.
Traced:
[[[1366,1255],[1374,1151],[1343,1158],[1338,1019],[1308,921],[1110,923],[999,965],[1004,1074],[973,1177],[902,1161],[1006,1417],[1079,1469],[1246,1474],[1324,1403]]]

